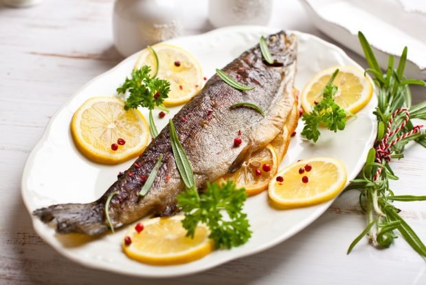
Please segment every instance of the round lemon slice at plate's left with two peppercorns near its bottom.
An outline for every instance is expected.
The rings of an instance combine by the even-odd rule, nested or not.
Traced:
[[[71,120],[71,134],[82,154],[106,164],[139,156],[149,138],[144,116],[136,109],[124,110],[124,101],[115,97],[83,103]]]

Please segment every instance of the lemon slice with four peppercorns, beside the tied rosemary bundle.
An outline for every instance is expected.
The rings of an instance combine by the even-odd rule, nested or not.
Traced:
[[[300,173],[303,169],[303,173]],[[346,167],[334,158],[300,160],[269,182],[269,198],[284,208],[306,207],[337,196],[346,184]]]

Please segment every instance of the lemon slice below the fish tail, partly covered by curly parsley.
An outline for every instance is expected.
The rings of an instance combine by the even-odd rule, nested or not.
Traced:
[[[182,264],[198,260],[214,249],[205,224],[195,229],[194,238],[186,237],[181,220],[183,215],[153,218],[144,221],[138,233],[137,225],[130,229],[122,242],[124,253],[133,260],[155,265]]]

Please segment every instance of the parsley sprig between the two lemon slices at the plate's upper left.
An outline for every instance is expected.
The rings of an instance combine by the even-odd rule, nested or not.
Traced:
[[[125,94],[128,92],[130,94],[124,109],[148,108],[150,118],[152,118],[153,109],[162,107],[164,99],[168,98],[170,82],[164,79],[150,78],[149,73],[150,67],[146,65],[139,70],[133,70],[131,78],[126,77],[123,85],[117,88],[117,93]],[[154,120],[150,120],[150,133],[153,137],[157,136]]]

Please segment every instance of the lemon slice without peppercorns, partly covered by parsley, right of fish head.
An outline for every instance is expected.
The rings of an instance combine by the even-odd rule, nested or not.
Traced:
[[[367,105],[372,97],[373,85],[369,76],[364,76],[362,70],[351,66],[331,67],[319,72],[302,91],[301,101],[305,112],[311,112],[315,103],[322,100],[322,92],[330,76],[339,69],[333,85],[337,93],[335,102],[348,112],[356,113]]]

